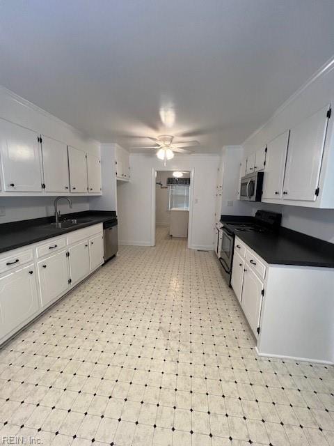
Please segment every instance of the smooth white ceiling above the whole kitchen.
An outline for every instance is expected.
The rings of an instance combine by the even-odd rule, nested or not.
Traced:
[[[214,152],[333,56],[333,17],[333,0],[2,0],[0,84],[99,141]]]

